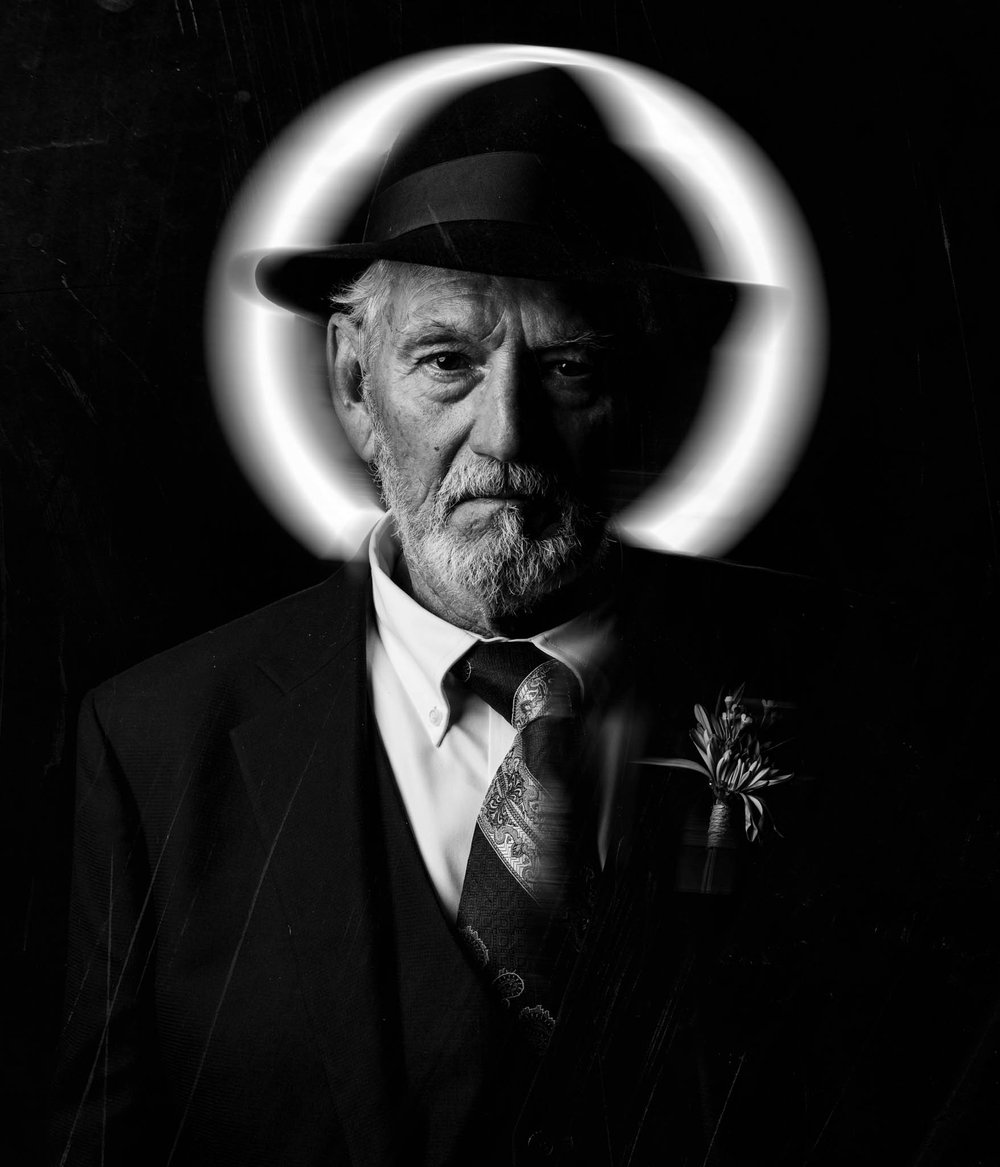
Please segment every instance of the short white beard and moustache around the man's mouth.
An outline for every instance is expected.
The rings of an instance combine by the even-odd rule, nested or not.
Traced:
[[[433,504],[421,513],[399,473],[385,426],[369,394],[375,435],[373,468],[386,510],[396,522],[411,573],[443,595],[471,595],[492,617],[531,612],[539,600],[595,568],[610,545],[606,516],[536,467],[515,462],[453,466]],[[519,505],[499,506],[473,534],[448,518],[464,498],[517,494],[544,498],[558,515],[543,536],[525,532]]]

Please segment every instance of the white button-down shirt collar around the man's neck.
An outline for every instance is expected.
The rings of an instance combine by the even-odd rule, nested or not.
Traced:
[[[440,746],[452,724],[446,678],[482,637],[449,624],[407,595],[392,578],[399,554],[392,520],[385,516],[369,543],[376,629],[428,739]],[[530,640],[573,670],[585,700],[601,701],[607,692],[603,665],[611,651],[613,630],[614,617],[604,606]]]

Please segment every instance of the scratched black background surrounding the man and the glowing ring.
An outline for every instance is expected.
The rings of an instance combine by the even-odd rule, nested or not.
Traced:
[[[900,823],[925,892],[900,943],[942,953],[931,1004],[960,1049],[940,1112],[918,1117],[919,1161],[994,1161],[975,1141],[1000,1100],[991,7],[5,5],[0,748],[13,1009],[0,1093],[16,1116],[2,1127],[5,1161],[30,1161],[58,1029],[82,693],[329,569],[257,501],[212,414],[202,296],[226,208],[268,141],[337,83],[422,49],[503,41],[608,53],[691,85],[756,139],[805,210],[832,303],[827,396],[791,487],[732,557],[819,575],[868,613],[859,676],[888,669],[881,741],[887,759],[905,759]],[[875,686],[859,711],[845,693],[844,717],[877,727],[879,697]],[[863,813],[849,775],[845,801]]]

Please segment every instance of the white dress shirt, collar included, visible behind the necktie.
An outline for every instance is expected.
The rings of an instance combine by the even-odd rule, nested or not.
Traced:
[[[390,519],[372,531],[369,558],[375,620],[368,666],[376,725],[427,873],[454,918],[480,806],[515,731],[449,676],[482,637],[435,616],[393,581],[399,547]],[[568,665],[585,698],[600,701],[606,684],[601,661],[610,651],[613,626],[607,612],[588,613],[532,636],[531,643]],[[606,778],[602,775],[602,861],[611,792]]]

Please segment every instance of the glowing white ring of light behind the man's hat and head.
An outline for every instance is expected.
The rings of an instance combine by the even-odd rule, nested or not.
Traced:
[[[747,296],[716,347],[704,404],[660,480],[616,519],[628,540],[722,554],[788,481],[819,404],[826,302],[795,200],[753,140],[677,82],[614,57],[520,44],[420,54],[317,102],[274,142],[229,215],[209,280],[209,371],[224,431],[280,522],[316,554],[352,554],[382,513],[322,391],[315,326],[237,287],[239,257],[335,237],[376,158],[432,104],[531,64],[566,69],[621,146],[688,219],[713,274]],[[333,232],[333,233],[331,233]]]

